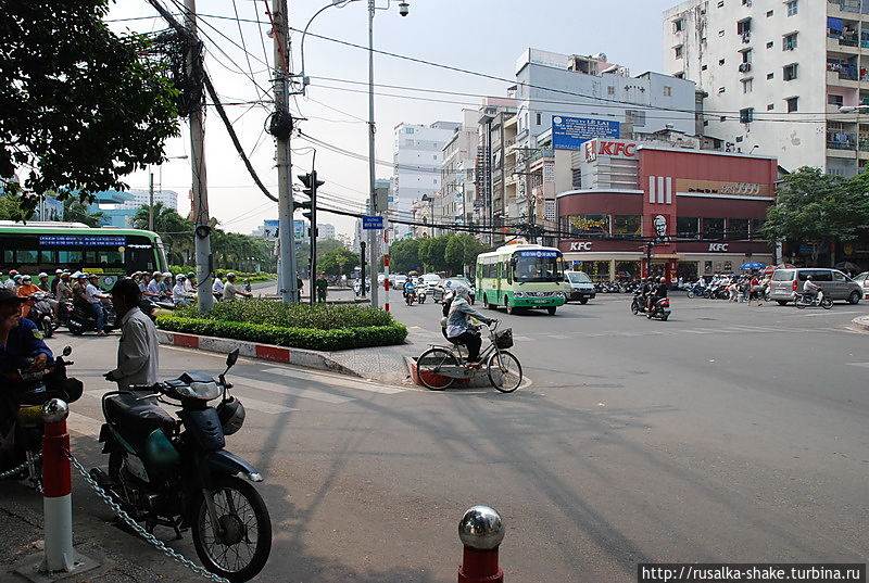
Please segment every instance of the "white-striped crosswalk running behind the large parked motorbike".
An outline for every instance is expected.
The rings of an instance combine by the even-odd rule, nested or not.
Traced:
[[[87,384],[87,379],[83,380]],[[281,367],[260,369],[257,378],[234,371],[227,380],[232,383],[232,394],[241,401],[249,414],[257,411],[266,415],[300,411],[312,402],[340,406],[367,395],[398,395],[411,390],[353,377]],[[99,403],[104,393],[102,390],[85,391],[83,398],[73,405],[72,408],[77,410],[70,411],[67,419],[72,433],[93,439],[99,435],[103,423]]]

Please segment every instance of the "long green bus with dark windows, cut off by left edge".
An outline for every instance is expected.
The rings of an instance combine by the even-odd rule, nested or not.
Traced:
[[[166,271],[166,252],[156,233],[83,223],[0,220],[0,269],[54,277],[55,269],[99,274],[111,287],[133,271]]]

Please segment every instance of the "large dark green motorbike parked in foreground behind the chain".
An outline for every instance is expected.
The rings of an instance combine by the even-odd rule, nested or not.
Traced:
[[[99,441],[108,473],[90,472],[149,533],[162,525],[180,538],[189,529],[202,565],[234,583],[256,576],[272,550],[268,508],[253,486],[263,478],[225,449],[226,436],[244,422],[244,407],[226,381],[237,359],[235,350],[217,380],[185,372],[105,393]],[[178,407],[178,419],[160,404]]]

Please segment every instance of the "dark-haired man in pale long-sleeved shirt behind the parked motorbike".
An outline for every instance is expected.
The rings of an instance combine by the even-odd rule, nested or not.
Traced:
[[[117,345],[117,368],[104,375],[121,390],[134,384],[154,384],[160,360],[156,328],[139,309],[141,292],[131,279],[122,279],[112,288],[117,317],[121,318],[121,342]]]

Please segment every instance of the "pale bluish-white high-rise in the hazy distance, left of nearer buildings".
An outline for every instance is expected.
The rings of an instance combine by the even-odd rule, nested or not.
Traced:
[[[394,174],[389,201],[393,217],[410,219],[415,201],[440,192],[443,147],[461,127],[462,124],[456,122],[395,126],[392,149]],[[394,239],[402,239],[411,232],[407,225],[396,223],[392,224],[391,230]]]

